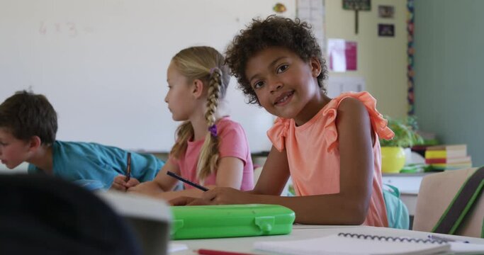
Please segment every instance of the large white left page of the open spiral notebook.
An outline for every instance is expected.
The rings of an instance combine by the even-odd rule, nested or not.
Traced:
[[[333,234],[327,237],[284,242],[256,242],[254,249],[274,251],[281,254],[438,254],[450,251],[450,244],[384,241],[341,237]]]

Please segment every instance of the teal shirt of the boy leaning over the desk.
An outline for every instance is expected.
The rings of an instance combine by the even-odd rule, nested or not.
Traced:
[[[67,181],[96,180],[110,188],[119,174],[126,174],[128,152],[92,142],[61,142],[52,145],[52,173]],[[140,182],[152,181],[164,162],[152,154],[131,153],[131,176]],[[28,174],[43,173],[33,164]]]

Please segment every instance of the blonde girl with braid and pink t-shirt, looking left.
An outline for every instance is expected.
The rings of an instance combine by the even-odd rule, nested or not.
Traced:
[[[212,47],[188,47],[178,52],[167,70],[169,91],[164,98],[176,121],[176,143],[154,181],[129,188],[159,198],[199,197],[203,191],[184,184],[167,171],[206,188],[230,187],[247,191],[254,186],[253,166],[242,126],[220,114],[230,80],[223,55]]]

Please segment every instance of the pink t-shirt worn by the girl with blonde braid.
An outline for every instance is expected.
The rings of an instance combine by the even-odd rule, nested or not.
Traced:
[[[244,173],[242,174],[241,191],[250,191],[254,188],[254,166],[252,165],[252,158],[249,149],[249,142],[244,129],[239,123],[230,120],[229,117],[224,117],[217,122],[217,132],[219,137],[219,159],[223,157],[236,157],[244,162]],[[196,165],[198,162],[198,155],[203,145],[203,140],[190,142],[186,147],[185,154],[181,155],[179,159],[169,156],[173,164],[177,164],[180,169],[180,174],[183,178],[194,183],[200,183],[196,178]],[[208,176],[203,185],[215,185],[215,173]],[[223,169],[220,169],[223,171]],[[193,188],[184,183],[185,188]]]

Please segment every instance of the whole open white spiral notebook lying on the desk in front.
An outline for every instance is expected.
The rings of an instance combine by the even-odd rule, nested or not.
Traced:
[[[454,249],[455,246],[455,249]],[[475,254],[484,245],[441,242],[408,237],[339,233],[327,237],[281,242],[256,242],[254,249],[291,255],[313,254]]]

